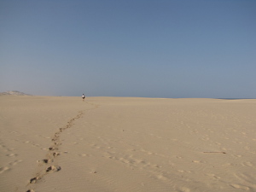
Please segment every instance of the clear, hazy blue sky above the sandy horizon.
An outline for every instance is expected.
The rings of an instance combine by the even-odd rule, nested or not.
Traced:
[[[0,92],[256,97],[255,0],[0,0]]]

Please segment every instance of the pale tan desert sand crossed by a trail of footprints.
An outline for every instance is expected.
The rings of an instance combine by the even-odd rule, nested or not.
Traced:
[[[0,191],[256,191],[256,100],[0,96]]]

